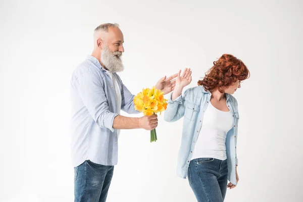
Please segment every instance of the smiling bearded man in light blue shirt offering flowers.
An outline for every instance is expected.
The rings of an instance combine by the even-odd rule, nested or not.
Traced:
[[[106,201],[118,161],[121,129],[153,130],[157,115],[130,118],[120,115],[139,113],[134,95],[117,72],[121,61],[123,34],[118,24],[102,24],[94,30],[94,49],[73,72],[71,79],[71,155],[74,166],[75,201]],[[165,94],[175,85],[174,78],[161,78],[156,88]]]

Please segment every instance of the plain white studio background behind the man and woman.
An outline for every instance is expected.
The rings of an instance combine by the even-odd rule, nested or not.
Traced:
[[[303,201],[300,1],[1,1],[0,201],[73,201],[72,71],[99,24],[124,33],[123,82],[137,93],[222,54],[251,73],[235,93],[240,181],[225,201]],[[126,115],[126,114],[123,114]],[[195,201],[176,175],[182,120],[159,117],[158,141],[122,131],[108,201]]]

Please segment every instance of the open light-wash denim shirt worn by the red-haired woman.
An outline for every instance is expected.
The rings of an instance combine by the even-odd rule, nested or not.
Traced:
[[[164,120],[174,122],[183,119],[182,141],[177,161],[177,174],[186,178],[187,169],[192,156],[192,151],[198,138],[203,117],[211,100],[211,92],[206,91],[203,86],[197,86],[187,89],[183,95],[177,97],[174,101],[170,98],[168,107],[165,111]],[[226,135],[226,155],[228,164],[228,180],[236,185],[236,165],[238,165],[236,145],[238,130],[238,104],[237,100],[226,93],[226,105],[233,116],[233,128]]]

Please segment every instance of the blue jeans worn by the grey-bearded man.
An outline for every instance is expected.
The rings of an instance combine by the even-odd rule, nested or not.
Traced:
[[[85,161],[74,168],[75,202],[105,202],[114,174],[114,166]]]

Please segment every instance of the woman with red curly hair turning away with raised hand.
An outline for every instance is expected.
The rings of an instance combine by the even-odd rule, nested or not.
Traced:
[[[184,179],[187,176],[198,201],[223,201],[227,187],[234,188],[239,180],[239,113],[232,94],[249,77],[249,71],[241,60],[224,54],[197,87],[183,94],[191,82],[191,71],[180,74],[164,116],[168,122],[184,116],[177,173]]]

